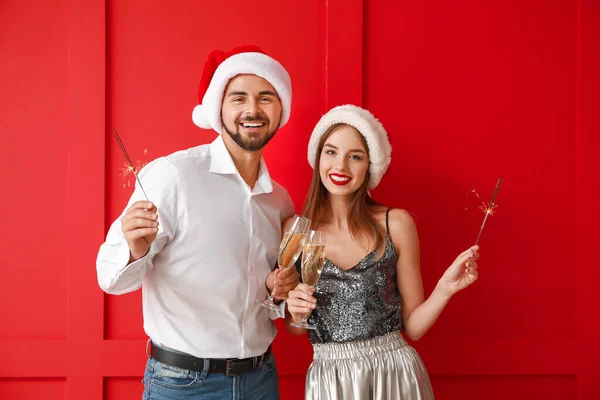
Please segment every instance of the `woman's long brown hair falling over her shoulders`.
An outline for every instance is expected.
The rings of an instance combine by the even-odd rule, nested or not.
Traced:
[[[318,226],[323,216],[323,209],[327,207],[327,197],[329,192],[321,181],[320,165],[321,165],[321,152],[325,146],[325,141],[331,134],[341,126],[350,126],[346,124],[335,124],[332,125],[323,134],[319,140],[317,147],[317,154],[315,157],[315,169],[313,171],[312,181],[310,183],[310,189],[306,200],[304,202],[304,210],[302,213],[305,217],[312,221],[313,227]],[[360,139],[369,154],[369,146],[367,141],[362,134],[359,132]],[[350,231],[350,237],[357,241],[359,245],[365,250],[383,250],[385,245],[386,232],[375,218],[373,214],[381,208],[381,204],[377,203],[367,193],[367,185],[371,174],[369,170],[365,175],[365,180],[360,188],[354,192],[350,208],[348,209],[348,229]]]

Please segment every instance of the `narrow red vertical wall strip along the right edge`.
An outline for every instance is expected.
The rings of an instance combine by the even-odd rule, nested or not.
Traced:
[[[598,268],[598,213],[590,207],[598,203],[598,151],[600,150],[600,3],[579,1],[579,70],[577,135],[577,355],[579,398],[600,398],[600,320],[598,304],[600,281]]]

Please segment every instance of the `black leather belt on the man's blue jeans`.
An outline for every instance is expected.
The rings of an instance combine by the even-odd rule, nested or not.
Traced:
[[[227,376],[240,375],[246,372],[250,372],[260,366],[262,360],[264,360],[271,352],[271,347],[267,351],[255,357],[249,358],[209,358],[208,372],[225,374]],[[191,371],[202,372],[204,370],[204,358],[194,357],[189,354],[175,353],[170,350],[166,350],[150,343],[150,355],[156,361],[163,364],[170,365],[172,367],[189,369]]]

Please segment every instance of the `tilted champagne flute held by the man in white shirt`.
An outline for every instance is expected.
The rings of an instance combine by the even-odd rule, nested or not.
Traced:
[[[281,271],[291,268],[298,259],[309,228],[310,219],[296,215],[290,228],[283,234],[277,257],[277,265]],[[272,294],[264,300],[257,300],[257,302],[271,310],[279,309],[279,306],[273,302]]]

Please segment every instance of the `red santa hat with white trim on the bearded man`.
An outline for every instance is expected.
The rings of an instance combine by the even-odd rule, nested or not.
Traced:
[[[213,50],[206,59],[200,85],[198,104],[192,113],[194,124],[203,129],[223,132],[221,105],[229,80],[236,75],[253,74],[273,85],[281,100],[279,127],[290,118],[292,106],[292,81],[290,75],[275,59],[253,45],[236,47],[230,51]]]

